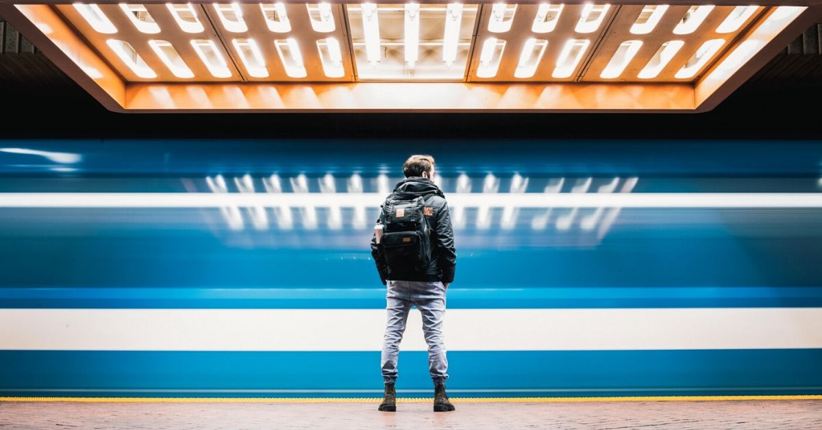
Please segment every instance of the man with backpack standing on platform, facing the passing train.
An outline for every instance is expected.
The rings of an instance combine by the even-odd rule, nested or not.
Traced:
[[[446,395],[448,360],[442,340],[446,289],[454,280],[456,266],[454,230],[445,195],[433,183],[434,158],[412,155],[405,161],[403,173],[405,179],[396,185],[383,205],[371,242],[376,270],[382,283],[387,285],[388,321],[381,355],[386,393],[379,410],[397,410],[395,381],[399,342],[409,311],[416,306],[423,316],[423,334],[428,344],[434,411],[446,412],[455,409]],[[384,228],[385,233],[377,238],[380,228]],[[415,228],[418,230],[413,230]]]

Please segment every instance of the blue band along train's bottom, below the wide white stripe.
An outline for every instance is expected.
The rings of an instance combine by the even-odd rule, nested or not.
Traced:
[[[454,351],[454,396],[822,394],[822,349]],[[0,351],[0,395],[377,397],[379,352]],[[425,352],[399,395],[430,396]]]

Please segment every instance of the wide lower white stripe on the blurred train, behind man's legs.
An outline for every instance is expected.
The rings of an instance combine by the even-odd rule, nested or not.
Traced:
[[[376,351],[379,309],[0,309],[0,349]],[[451,309],[449,350],[822,348],[822,307]],[[425,350],[409,317],[404,350]]]

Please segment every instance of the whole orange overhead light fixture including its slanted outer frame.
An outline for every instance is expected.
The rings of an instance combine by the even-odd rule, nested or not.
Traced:
[[[822,0],[0,2],[119,112],[704,111],[820,13]]]

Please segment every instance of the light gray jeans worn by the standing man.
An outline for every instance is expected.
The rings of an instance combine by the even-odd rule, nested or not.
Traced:
[[[399,342],[403,340],[405,322],[411,307],[423,315],[423,334],[428,344],[428,371],[435,382],[448,378],[446,347],[442,344],[442,317],[446,314],[446,286],[441,282],[389,280],[386,293],[386,335],[382,342],[382,380],[397,379]]]

